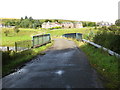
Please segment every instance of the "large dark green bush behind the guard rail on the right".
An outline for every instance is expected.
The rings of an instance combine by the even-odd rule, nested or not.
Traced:
[[[99,31],[93,37],[93,42],[120,54],[120,31],[115,33],[112,31]]]

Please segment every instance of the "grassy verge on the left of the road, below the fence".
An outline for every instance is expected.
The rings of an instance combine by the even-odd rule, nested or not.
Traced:
[[[42,54],[41,52],[53,45],[53,41],[49,44],[34,48],[31,50],[15,53],[15,52],[3,52],[2,55],[2,76],[15,71],[15,68],[22,66],[24,63],[30,61],[35,56]],[[22,57],[21,57],[22,56]]]

